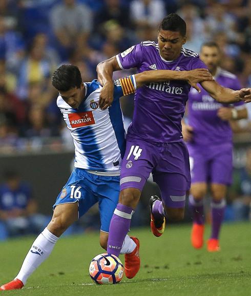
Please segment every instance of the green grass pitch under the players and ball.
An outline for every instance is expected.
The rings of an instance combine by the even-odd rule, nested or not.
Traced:
[[[96,285],[89,263],[102,252],[98,233],[60,239],[51,256],[30,277],[22,290],[3,295],[151,295],[248,296],[251,295],[250,223],[224,224],[221,251],[190,245],[191,225],[170,225],[160,238],[150,229],[132,229],[140,239],[141,269],[118,285]],[[205,239],[210,227],[206,227]],[[13,279],[34,238],[0,243],[0,284]],[[121,256],[123,261],[123,256]]]

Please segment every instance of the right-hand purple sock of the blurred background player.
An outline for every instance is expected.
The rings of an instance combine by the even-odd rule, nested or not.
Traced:
[[[212,207],[212,235],[211,239],[219,238],[221,223],[224,218],[226,201],[222,199],[220,201],[213,200],[211,203]]]

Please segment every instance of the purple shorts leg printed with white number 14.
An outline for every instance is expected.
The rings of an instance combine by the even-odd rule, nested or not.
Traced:
[[[150,143],[127,141],[126,152],[121,164],[120,191],[136,188],[141,192],[154,166],[154,146]]]

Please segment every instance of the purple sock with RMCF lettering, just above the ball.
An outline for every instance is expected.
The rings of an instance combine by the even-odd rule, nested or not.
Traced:
[[[107,243],[107,252],[115,256],[119,256],[123,245],[124,238],[129,231],[131,218],[134,210],[132,207],[117,204],[114,210],[109,228],[109,237]]]

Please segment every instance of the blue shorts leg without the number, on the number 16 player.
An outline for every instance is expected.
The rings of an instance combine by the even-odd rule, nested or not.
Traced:
[[[97,194],[101,222],[100,230],[108,233],[113,212],[118,204],[119,176],[100,176],[99,181],[99,186],[102,186],[102,192]]]

